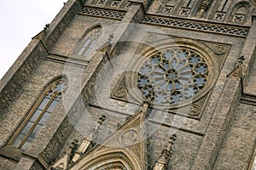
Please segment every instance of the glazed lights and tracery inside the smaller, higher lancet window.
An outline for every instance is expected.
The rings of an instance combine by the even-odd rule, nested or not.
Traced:
[[[75,50],[75,54],[80,56],[87,56],[90,53],[91,48],[93,48],[93,46],[96,44],[96,41],[99,39],[101,34],[101,27],[96,27],[90,31],[84,37],[84,40],[80,43],[79,47]]]

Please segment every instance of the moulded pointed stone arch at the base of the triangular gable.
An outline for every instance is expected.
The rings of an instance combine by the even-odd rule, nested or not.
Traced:
[[[124,170],[142,170],[137,157],[130,150],[107,149],[89,153],[76,163],[71,170],[111,169],[117,167]]]

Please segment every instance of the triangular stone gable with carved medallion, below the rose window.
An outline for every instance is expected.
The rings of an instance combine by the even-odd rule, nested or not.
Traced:
[[[97,167],[128,166],[129,169],[148,169],[147,116],[148,103],[137,111],[125,124],[97,144],[76,161],[70,170],[97,169]]]

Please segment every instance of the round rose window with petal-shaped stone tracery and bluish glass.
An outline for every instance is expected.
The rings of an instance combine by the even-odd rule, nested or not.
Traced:
[[[188,48],[170,48],[152,54],[139,67],[137,88],[155,104],[177,104],[192,99],[205,87],[208,65]]]

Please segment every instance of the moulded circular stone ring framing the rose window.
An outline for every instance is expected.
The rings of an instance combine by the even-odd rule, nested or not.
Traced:
[[[204,59],[205,63],[208,66],[208,73],[207,73],[207,83],[203,88],[199,90],[195,96],[189,99],[183,99],[177,103],[168,103],[168,104],[157,104],[154,101],[148,101],[143,98],[141,94],[142,91],[137,87],[137,72],[139,71],[140,67],[143,63],[149,59],[152,55],[159,53],[160,51],[165,51],[166,49],[172,48],[180,48],[180,49],[187,49],[196,52],[197,54],[201,55],[201,58]],[[140,51],[139,54],[136,54],[136,59],[132,59],[131,64],[128,66],[128,73],[125,74],[125,85],[128,89],[129,94],[131,94],[131,98],[135,99],[138,103],[142,104],[144,101],[149,102],[151,105],[155,107],[164,107],[164,108],[179,108],[185,105],[190,105],[195,101],[201,99],[205,96],[213,87],[216,82],[217,75],[218,75],[218,62],[216,59],[216,55],[212,52],[210,48],[206,45],[202,44],[201,42],[196,42],[194,40],[186,39],[186,38],[177,38],[175,41],[166,41],[161,44],[154,45],[153,47],[147,47]]]

